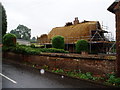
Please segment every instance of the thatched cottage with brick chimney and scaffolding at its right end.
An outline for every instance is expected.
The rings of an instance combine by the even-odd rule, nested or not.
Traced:
[[[74,51],[74,44],[80,39],[85,39],[90,43],[103,43],[103,41],[108,41],[104,33],[107,33],[107,31],[102,30],[99,21],[84,20],[83,22],[79,22],[76,17],[73,23],[68,22],[63,27],[55,27],[48,35],[43,34],[37,40],[40,44],[50,44],[54,36],[60,35],[64,37],[66,49]]]

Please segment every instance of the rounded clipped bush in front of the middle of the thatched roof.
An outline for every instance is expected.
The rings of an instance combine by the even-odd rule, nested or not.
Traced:
[[[64,49],[64,37],[62,36],[55,36],[52,39],[52,47],[57,49]]]

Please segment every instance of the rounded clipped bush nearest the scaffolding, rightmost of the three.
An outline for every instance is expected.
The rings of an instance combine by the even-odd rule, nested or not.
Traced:
[[[77,53],[82,51],[88,52],[88,42],[86,40],[78,40],[75,46]]]

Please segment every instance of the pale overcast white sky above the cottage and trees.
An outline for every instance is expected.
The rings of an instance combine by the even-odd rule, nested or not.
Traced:
[[[0,0],[7,14],[7,32],[19,24],[31,29],[32,37],[48,34],[66,22],[99,21],[115,38],[115,15],[107,11],[114,0]],[[106,28],[107,27],[107,28]]]

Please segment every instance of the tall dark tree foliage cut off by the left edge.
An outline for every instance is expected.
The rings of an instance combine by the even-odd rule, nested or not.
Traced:
[[[7,15],[6,15],[5,8],[1,3],[0,3],[0,9],[2,9],[0,11],[2,11],[2,37],[3,37],[7,31]]]

